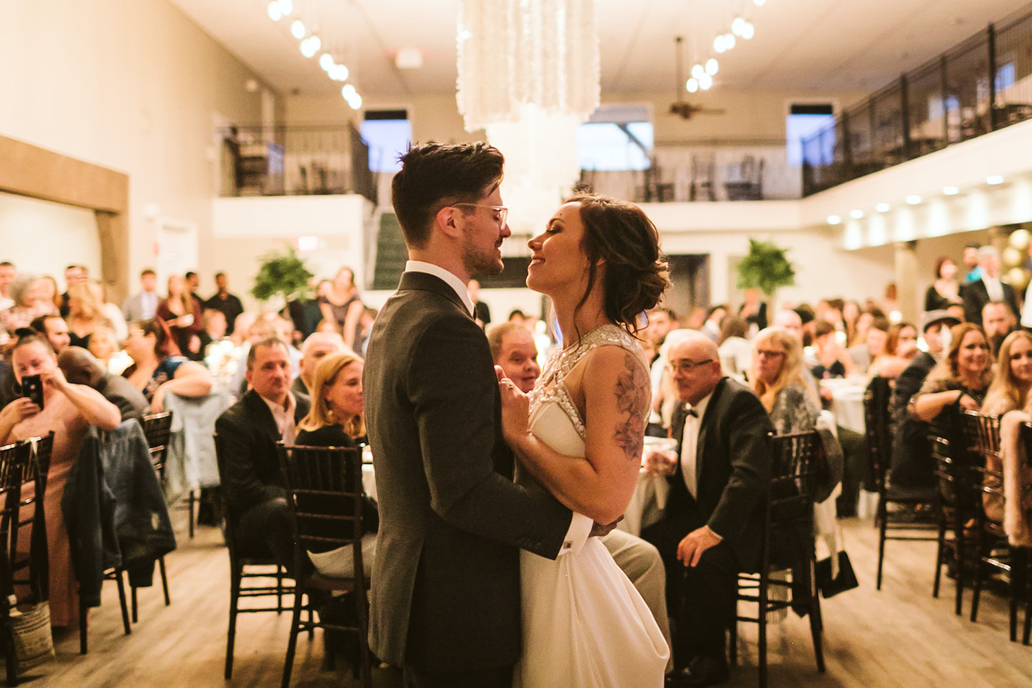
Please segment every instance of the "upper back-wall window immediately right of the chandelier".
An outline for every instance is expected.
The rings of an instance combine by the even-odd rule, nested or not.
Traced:
[[[602,105],[577,127],[581,169],[643,170],[652,156],[652,123],[641,105]]]

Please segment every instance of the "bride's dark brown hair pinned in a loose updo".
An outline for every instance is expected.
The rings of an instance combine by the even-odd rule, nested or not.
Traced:
[[[605,261],[603,293],[606,316],[631,334],[644,327],[641,314],[655,307],[670,285],[667,257],[659,251],[659,232],[640,207],[608,196],[578,194],[588,260],[587,289],[579,309],[594,287],[598,263]]]

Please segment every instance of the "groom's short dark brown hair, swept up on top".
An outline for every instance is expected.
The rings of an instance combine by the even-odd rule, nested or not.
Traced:
[[[486,195],[485,190],[501,184],[506,162],[496,148],[484,141],[430,141],[410,148],[398,160],[401,171],[391,183],[391,202],[405,242],[414,248],[426,245],[441,208],[476,203]]]

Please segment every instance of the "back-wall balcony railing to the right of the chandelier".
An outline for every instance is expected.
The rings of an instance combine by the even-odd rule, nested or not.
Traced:
[[[799,198],[783,139],[663,142],[641,171],[581,170],[596,193],[638,203]]]

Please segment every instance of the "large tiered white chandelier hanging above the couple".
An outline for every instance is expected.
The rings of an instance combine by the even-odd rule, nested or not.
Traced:
[[[599,106],[594,0],[462,0],[457,38],[465,129],[506,156],[510,227],[536,234],[580,175],[577,126]]]

